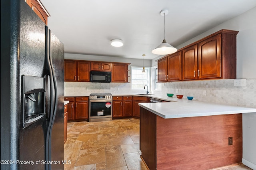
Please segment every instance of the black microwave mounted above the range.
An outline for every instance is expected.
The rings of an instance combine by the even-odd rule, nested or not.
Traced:
[[[110,83],[111,72],[110,71],[90,71],[90,81],[100,82],[100,83]]]

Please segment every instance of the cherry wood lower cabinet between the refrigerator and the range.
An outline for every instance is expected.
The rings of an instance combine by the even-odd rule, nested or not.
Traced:
[[[68,121],[89,119],[89,97],[65,97],[68,100]]]

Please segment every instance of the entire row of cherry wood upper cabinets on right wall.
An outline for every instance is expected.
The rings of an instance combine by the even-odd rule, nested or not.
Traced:
[[[220,30],[158,60],[158,81],[236,79],[236,34]]]

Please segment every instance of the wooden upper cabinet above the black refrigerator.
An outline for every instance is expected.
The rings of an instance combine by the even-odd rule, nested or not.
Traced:
[[[25,0],[25,2],[32,8],[32,10],[39,16],[39,18],[47,25],[47,20],[50,14],[44,8],[40,0]]]

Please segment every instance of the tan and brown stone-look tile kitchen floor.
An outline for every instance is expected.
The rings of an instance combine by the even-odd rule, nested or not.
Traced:
[[[140,158],[140,121],[68,123],[65,170],[146,170]],[[217,170],[217,169],[214,169]],[[218,170],[251,170],[244,165]]]

